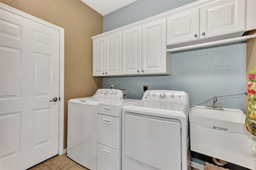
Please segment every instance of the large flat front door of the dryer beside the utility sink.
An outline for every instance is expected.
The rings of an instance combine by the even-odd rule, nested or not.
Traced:
[[[126,112],[124,154],[156,169],[181,169],[181,123]]]

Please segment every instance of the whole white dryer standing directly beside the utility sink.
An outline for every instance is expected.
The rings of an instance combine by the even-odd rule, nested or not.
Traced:
[[[190,169],[188,94],[148,90],[122,108],[122,170]]]

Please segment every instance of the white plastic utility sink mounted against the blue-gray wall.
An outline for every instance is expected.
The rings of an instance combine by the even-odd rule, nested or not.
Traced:
[[[245,128],[245,117],[238,109],[192,107],[189,113],[191,150],[254,170],[252,134]]]

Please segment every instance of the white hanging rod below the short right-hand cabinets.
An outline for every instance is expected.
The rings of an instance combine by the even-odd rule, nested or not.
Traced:
[[[177,48],[172,48],[172,49],[167,49],[167,52],[172,52],[172,51],[180,51],[180,50],[185,50],[185,49],[192,49],[192,48],[198,48],[198,47],[206,47],[206,46],[210,46],[210,45],[215,45],[215,44],[221,44],[221,43],[229,43],[229,42],[234,42],[234,41],[238,41],[238,40],[246,40],[246,39],[250,39],[250,38],[256,38],[256,33],[250,36],[242,36],[242,37],[238,37],[238,38],[229,38],[226,40],[219,40],[219,41],[215,41],[215,42],[208,42],[208,43],[199,43],[199,44],[195,44],[195,45],[188,45],[188,46],[184,46],[184,47],[177,47]]]

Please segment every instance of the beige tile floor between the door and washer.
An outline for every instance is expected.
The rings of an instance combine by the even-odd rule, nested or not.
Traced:
[[[67,157],[67,154],[54,156],[29,170],[88,170]]]

